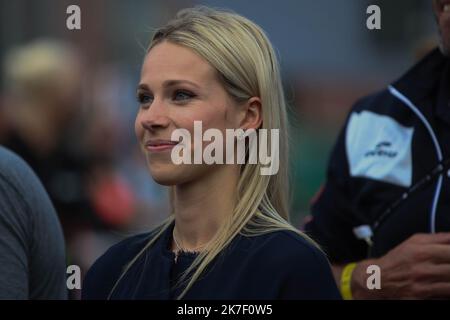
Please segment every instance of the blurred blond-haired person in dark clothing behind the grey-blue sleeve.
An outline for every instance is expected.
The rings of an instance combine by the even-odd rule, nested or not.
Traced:
[[[67,44],[35,40],[4,61],[7,121],[0,143],[22,156],[50,194],[70,238],[92,212],[91,158],[81,120],[81,61]]]

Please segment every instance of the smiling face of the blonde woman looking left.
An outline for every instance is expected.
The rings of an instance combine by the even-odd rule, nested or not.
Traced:
[[[176,165],[171,158],[174,130],[189,131],[193,161],[194,121],[202,122],[202,133],[215,128],[225,137],[225,129],[238,128],[242,119],[241,108],[207,61],[186,47],[159,43],[144,60],[137,95],[140,107],[135,131],[156,182],[178,185],[217,170],[216,165]]]

